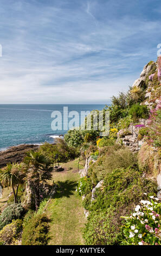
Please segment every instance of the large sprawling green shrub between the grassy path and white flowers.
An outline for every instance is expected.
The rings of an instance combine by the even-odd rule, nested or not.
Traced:
[[[96,190],[86,224],[84,238],[87,245],[115,245],[121,243],[121,218],[129,214],[143,193],[156,193],[156,183],[143,178],[137,166],[119,168],[107,173],[104,185]]]

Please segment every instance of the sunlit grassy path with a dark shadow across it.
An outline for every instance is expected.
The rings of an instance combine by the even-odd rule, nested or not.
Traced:
[[[78,160],[62,164],[63,172],[53,175],[54,182],[58,182],[59,190],[54,199],[46,207],[46,213],[51,219],[49,245],[83,245],[83,228],[85,215],[81,205],[81,198],[75,192],[79,174]]]

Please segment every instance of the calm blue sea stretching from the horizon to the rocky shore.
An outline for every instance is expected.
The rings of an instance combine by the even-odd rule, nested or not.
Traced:
[[[51,113],[63,106],[69,111],[101,110],[105,105],[0,105],[0,150],[19,144],[52,143],[67,131],[51,130]],[[70,118],[69,118],[70,120]]]

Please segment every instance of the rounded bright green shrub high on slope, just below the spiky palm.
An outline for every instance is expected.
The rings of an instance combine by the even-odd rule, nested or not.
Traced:
[[[146,105],[133,105],[129,110],[129,114],[132,115],[134,120],[137,118],[148,118],[149,110]]]

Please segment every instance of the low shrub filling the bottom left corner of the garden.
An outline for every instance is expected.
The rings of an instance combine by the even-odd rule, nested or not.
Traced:
[[[0,244],[16,245],[21,237],[22,220],[12,221],[0,231]]]

